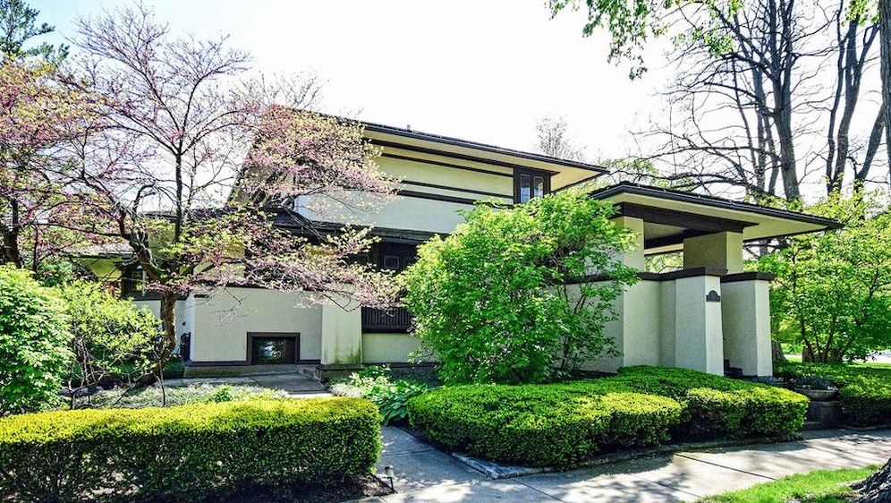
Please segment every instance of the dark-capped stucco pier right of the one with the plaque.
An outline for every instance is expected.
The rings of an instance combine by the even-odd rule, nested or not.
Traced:
[[[770,352],[770,279],[765,273],[724,277],[724,351],[744,376],[773,375]]]

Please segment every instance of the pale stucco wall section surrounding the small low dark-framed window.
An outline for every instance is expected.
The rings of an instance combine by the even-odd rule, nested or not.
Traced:
[[[300,359],[321,357],[321,309],[303,294],[228,288],[194,303],[192,362],[244,362],[249,331],[299,332]]]

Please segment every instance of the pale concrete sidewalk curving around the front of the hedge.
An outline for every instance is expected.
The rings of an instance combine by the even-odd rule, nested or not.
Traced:
[[[796,442],[682,452],[496,481],[388,427],[378,470],[393,466],[397,492],[362,501],[692,501],[793,473],[878,465],[891,456],[891,430],[810,431],[805,436]]]

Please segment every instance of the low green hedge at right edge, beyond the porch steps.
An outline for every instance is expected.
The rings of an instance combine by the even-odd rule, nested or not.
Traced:
[[[785,379],[817,376],[838,388],[844,422],[853,426],[891,423],[891,369],[860,365],[793,363],[776,365]]]

